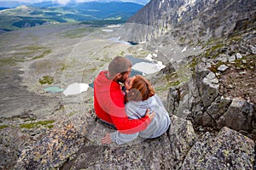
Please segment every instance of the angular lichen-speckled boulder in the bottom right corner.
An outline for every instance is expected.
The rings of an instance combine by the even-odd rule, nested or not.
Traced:
[[[252,139],[223,127],[218,136],[206,133],[189,150],[181,169],[253,169]]]

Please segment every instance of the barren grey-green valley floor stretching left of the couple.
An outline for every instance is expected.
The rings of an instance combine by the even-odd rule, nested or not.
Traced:
[[[0,35],[1,168],[14,166],[26,146],[37,143],[63,121],[83,133],[80,127],[83,123],[73,116],[93,115],[92,89],[66,97],[45,92],[44,88],[67,88],[73,82],[91,83],[115,55],[145,58],[147,51],[107,41],[116,36],[112,31],[118,28],[105,28],[108,32],[67,24]]]

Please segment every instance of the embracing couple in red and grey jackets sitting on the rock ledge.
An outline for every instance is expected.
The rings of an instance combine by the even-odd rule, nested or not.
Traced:
[[[102,144],[125,144],[137,136],[154,139],[166,133],[171,120],[150,82],[142,76],[129,78],[131,61],[115,57],[108,71],[94,82],[94,107],[101,122],[117,129],[102,138]],[[122,90],[121,83],[125,84]]]

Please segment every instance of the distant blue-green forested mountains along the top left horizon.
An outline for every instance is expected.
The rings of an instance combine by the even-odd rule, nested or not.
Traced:
[[[0,29],[15,30],[22,27],[64,22],[84,22],[94,26],[125,23],[143,5],[137,3],[34,3],[1,11]]]

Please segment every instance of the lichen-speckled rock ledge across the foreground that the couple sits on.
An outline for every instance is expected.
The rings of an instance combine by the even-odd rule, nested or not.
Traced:
[[[102,145],[113,129],[98,122],[83,136],[66,124],[22,151],[15,169],[251,169],[254,142],[224,127],[217,136],[197,138],[188,120],[171,116],[170,131],[157,139],[136,139],[131,144]],[[89,132],[88,131],[88,132]],[[213,166],[213,167],[211,167]]]

